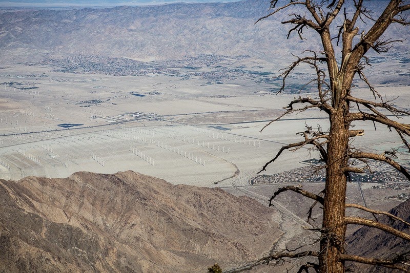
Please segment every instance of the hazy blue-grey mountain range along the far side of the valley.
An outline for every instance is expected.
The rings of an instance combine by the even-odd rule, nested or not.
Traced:
[[[383,1],[367,5],[376,6],[375,2]],[[3,10],[0,55],[38,59],[99,54],[153,60],[200,53],[277,56],[289,50],[320,50],[312,39],[300,40],[293,35],[286,40],[290,26],[279,20],[289,11],[255,25],[268,13],[269,6],[269,1],[248,0],[107,9]],[[312,38],[313,34],[305,31],[304,35]],[[406,38],[409,33],[402,31],[399,35]]]

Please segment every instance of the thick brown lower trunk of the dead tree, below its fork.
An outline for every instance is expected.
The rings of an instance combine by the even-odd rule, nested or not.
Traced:
[[[344,109],[339,107],[330,116],[330,139],[327,144],[327,169],[325,198],[323,204],[323,233],[320,240],[320,272],[344,272],[343,262],[338,261],[344,253],[346,226],[343,225],[346,196],[346,174],[342,171],[347,164],[348,125],[344,120]]]

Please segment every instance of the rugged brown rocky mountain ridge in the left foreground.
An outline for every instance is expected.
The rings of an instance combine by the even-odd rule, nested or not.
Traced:
[[[7,271],[206,271],[256,259],[281,234],[253,199],[131,171],[0,180],[0,195]]]

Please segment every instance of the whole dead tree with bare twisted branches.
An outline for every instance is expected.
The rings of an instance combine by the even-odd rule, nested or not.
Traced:
[[[318,272],[344,272],[345,261],[410,271],[408,263],[403,259],[364,258],[346,254],[344,249],[346,226],[349,224],[371,226],[410,241],[410,235],[377,220],[345,215],[346,207],[359,208],[373,214],[387,214],[356,204],[346,204],[348,176],[352,173],[365,172],[364,167],[353,165],[352,160],[385,162],[410,180],[410,174],[395,161],[395,151],[386,151],[382,154],[362,152],[350,143],[352,138],[364,135],[363,130],[352,130],[355,121],[364,120],[374,124],[380,123],[391,131],[395,131],[410,150],[405,139],[410,136],[410,125],[397,121],[397,117],[408,116],[410,112],[398,108],[393,101],[383,99],[365,75],[365,68],[368,65],[366,53],[370,50],[378,53],[386,52],[393,43],[400,41],[399,39],[383,39],[382,35],[392,24],[403,26],[410,24],[410,21],[406,20],[406,12],[410,9],[410,4],[400,0],[380,2],[380,5],[384,3],[386,6],[381,7],[381,12],[378,11],[378,15],[375,16],[371,10],[368,10],[366,3],[369,2],[364,0],[272,0],[270,7],[272,12],[259,19],[274,16],[279,12],[288,12],[290,13],[288,19],[282,22],[282,24],[292,26],[288,38],[294,32],[300,38],[304,38],[303,31],[311,30],[320,37],[322,47],[321,52],[305,51],[302,53],[303,56],[298,57],[283,71],[283,82],[279,91],[281,92],[286,88],[286,78],[290,73],[298,65],[306,64],[314,71],[315,77],[312,79],[312,83],[314,83],[316,90],[315,95],[313,97],[299,95],[285,107],[286,111],[283,115],[268,123],[267,126],[285,115],[316,108],[329,116],[330,128],[322,131],[321,128],[307,127],[306,131],[300,133],[302,136],[300,142],[283,146],[262,169],[262,171],[265,170],[286,150],[300,149],[309,145],[319,151],[324,162],[323,167],[326,169],[323,195],[309,193],[299,187],[288,186],[280,188],[272,199],[281,192],[294,191],[322,205],[322,226],[316,230],[321,234],[320,251],[303,251],[302,253],[284,251],[284,253],[264,257],[255,264],[268,263],[285,257],[312,256],[318,258],[318,264],[306,264],[299,269],[300,272],[307,272],[309,268]],[[335,49],[340,49],[341,54],[335,52]],[[374,100],[355,97],[352,85],[355,77],[360,78],[368,86],[370,92],[373,93]],[[380,110],[387,110],[396,118],[389,118]],[[393,215],[388,216],[394,217]],[[396,220],[404,222],[402,219]]]

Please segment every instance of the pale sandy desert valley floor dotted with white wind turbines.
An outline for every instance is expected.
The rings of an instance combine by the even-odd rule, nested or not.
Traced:
[[[262,70],[277,70],[260,64]],[[321,112],[305,111],[260,132],[296,96],[264,90],[246,78],[209,85],[160,73],[118,77],[2,64],[0,176],[133,170],[174,184],[247,185],[283,144],[299,140],[295,133],[305,124],[328,125]],[[409,90],[379,86],[381,93],[400,96],[402,107],[410,103]],[[365,87],[357,92],[371,96]],[[355,145],[370,150],[401,145],[386,128],[358,125],[365,137]],[[310,158],[318,155],[307,149],[286,152],[264,173],[293,170]]]

